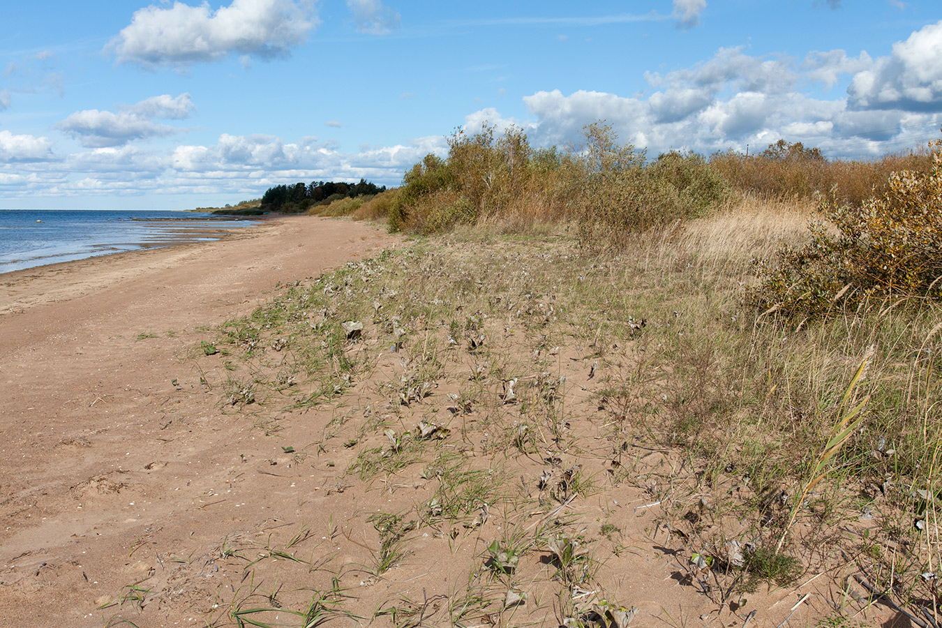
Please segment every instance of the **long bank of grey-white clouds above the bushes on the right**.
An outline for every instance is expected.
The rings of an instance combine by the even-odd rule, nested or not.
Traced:
[[[942,49],[934,47],[936,30],[942,32],[942,23],[921,29],[894,46],[892,56],[877,59],[866,52],[853,57],[834,50],[816,51],[799,61],[723,48],[688,68],[647,73],[653,89],[648,94],[538,91],[523,99],[530,117],[527,130],[538,143],[577,144],[585,124],[605,120],[623,141],[653,154],[742,151],[779,137],[819,146],[834,156],[915,146],[922,140],[910,138],[918,137],[920,129],[923,134],[937,130],[942,120],[942,61],[935,62],[942,59]],[[887,67],[899,72],[885,72]],[[806,93],[809,85],[832,88],[839,82],[850,83],[845,97]],[[468,119],[503,121],[494,110]]]

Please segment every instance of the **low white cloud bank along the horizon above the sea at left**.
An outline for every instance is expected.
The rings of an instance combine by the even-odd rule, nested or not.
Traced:
[[[29,137],[0,132],[0,199],[30,197],[238,195],[260,196],[271,185],[285,182],[358,181],[397,185],[402,173],[428,153],[445,153],[447,139],[419,137],[393,146],[364,146],[345,153],[331,141],[300,137],[285,141],[274,136],[222,134],[209,145],[173,149],[128,144],[73,153],[46,164],[4,163],[7,145],[25,159]],[[36,138],[32,138],[36,139]],[[50,143],[33,155],[49,155]]]

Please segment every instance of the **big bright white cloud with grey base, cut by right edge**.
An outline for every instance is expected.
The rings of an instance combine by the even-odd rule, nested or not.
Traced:
[[[897,41],[890,56],[856,72],[848,94],[857,109],[942,111],[942,21]]]

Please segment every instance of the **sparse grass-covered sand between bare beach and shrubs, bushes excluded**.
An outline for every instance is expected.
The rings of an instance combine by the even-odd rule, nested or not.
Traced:
[[[717,612],[802,569],[827,572],[820,585],[834,575],[837,598],[837,576],[856,574],[903,606],[929,599],[919,574],[942,568],[938,312],[874,303],[795,330],[744,304],[751,258],[800,239],[812,210],[749,197],[603,255],[587,255],[565,223],[491,217],[285,287],[220,330],[214,344],[227,358],[197,352],[210,384],[214,373],[251,376],[260,425],[266,413],[288,425],[284,409],[343,417],[308,450],[347,470],[336,480],[347,494],[382,497],[387,514],[354,512],[347,541],[331,537],[360,566],[325,564],[335,580],[317,584],[333,591],[318,607],[375,608],[389,625],[587,625],[593,607],[632,605],[620,583],[655,542],[679,556],[684,585],[671,595]],[[348,320],[364,323],[362,336],[345,337]],[[856,384],[869,404],[818,479],[841,396],[871,346]],[[239,372],[214,367],[220,360]],[[654,505],[641,511],[651,519],[612,506],[626,495]],[[356,530],[373,532],[361,541]],[[667,539],[646,540],[657,530]],[[422,579],[441,556],[460,572],[444,591],[444,576]],[[300,577],[288,569],[296,561],[265,565],[268,582]],[[407,576],[427,600],[362,585],[355,602],[345,598],[369,578]],[[526,604],[505,608],[509,592]],[[248,620],[255,598],[239,595],[230,619]],[[843,604],[816,612],[842,620],[866,600]]]

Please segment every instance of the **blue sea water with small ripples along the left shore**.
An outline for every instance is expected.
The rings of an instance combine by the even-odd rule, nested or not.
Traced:
[[[0,209],[0,273],[181,241],[257,224],[195,212]]]

